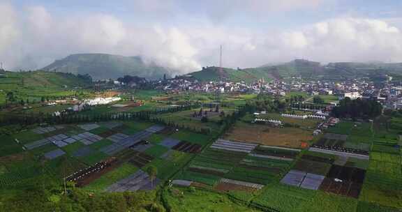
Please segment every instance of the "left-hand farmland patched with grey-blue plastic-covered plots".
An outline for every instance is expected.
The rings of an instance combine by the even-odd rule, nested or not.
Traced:
[[[128,147],[124,146],[126,143],[121,143],[124,139],[130,137],[138,139],[140,136],[138,133],[147,132],[149,134],[146,135],[151,135],[154,131],[148,132],[147,130],[154,128],[152,123],[144,122],[87,123],[36,127],[13,136],[3,137],[1,139],[4,144],[0,151],[2,153],[1,160],[10,161],[8,158],[16,157],[18,153],[26,155],[22,155],[24,156],[22,162],[27,160],[24,159],[27,156],[34,159],[31,159],[30,166],[25,163],[21,168],[19,166],[15,168],[17,161],[13,161],[7,166],[1,165],[0,179],[2,179],[3,184],[8,185],[8,181],[23,182],[43,175],[43,172],[47,173],[44,176],[66,176],[77,169],[95,165],[110,158],[110,156],[114,156],[114,154]],[[135,130],[137,134],[124,135],[127,130]],[[20,143],[15,142],[15,139]],[[126,142],[131,141],[127,140]],[[117,155],[117,158],[121,158],[121,156]],[[10,165],[13,164],[15,166],[10,169]],[[39,168],[41,166],[43,168]],[[25,169],[23,169],[24,167]],[[31,168],[27,169],[26,167]],[[30,169],[32,172],[29,171]],[[61,169],[64,169],[64,172],[61,172]],[[15,180],[10,179],[13,174],[18,176]],[[114,175],[116,174],[112,172],[112,176]]]

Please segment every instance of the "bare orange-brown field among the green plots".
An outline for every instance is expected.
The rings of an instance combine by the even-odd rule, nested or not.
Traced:
[[[312,130],[300,128],[272,128],[251,123],[237,122],[225,139],[252,142],[270,146],[301,148],[301,143],[313,139]]]

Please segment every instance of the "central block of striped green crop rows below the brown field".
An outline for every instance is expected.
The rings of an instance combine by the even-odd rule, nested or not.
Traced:
[[[218,190],[259,190],[285,173],[299,152],[218,139],[174,179]]]

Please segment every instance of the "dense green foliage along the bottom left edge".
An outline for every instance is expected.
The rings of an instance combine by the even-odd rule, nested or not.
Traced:
[[[165,211],[155,192],[92,193],[32,185],[13,195],[0,195],[0,211]]]

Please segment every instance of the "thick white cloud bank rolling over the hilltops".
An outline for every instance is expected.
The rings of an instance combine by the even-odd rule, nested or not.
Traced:
[[[142,12],[151,9],[170,14],[180,10],[170,0],[164,1],[164,6],[158,0],[135,2]],[[204,8],[200,17],[207,19],[201,18],[197,24],[183,20],[177,25],[127,22],[108,13],[57,15],[43,6],[16,8],[9,2],[0,3],[0,61],[6,68],[18,70],[42,68],[54,59],[75,53],[140,55],[179,73],[188,73],[217,65],[219,45],[223,45],[223,64],[228,67],[261,66],[295,58],[322,62],[402,61],[401,29],[385,20],[337,17],[276,31],[216,24],[240,8],[246,15],[275,13],[316,8],[323,1],[244,2],[206,3],[217,11],[228,9],[217,14],[215,9]]]

